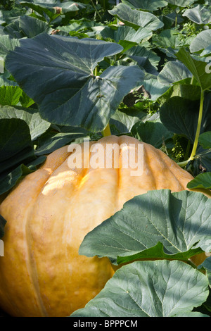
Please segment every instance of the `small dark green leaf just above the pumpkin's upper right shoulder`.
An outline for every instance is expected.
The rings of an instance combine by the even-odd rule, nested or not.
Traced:
[[[146,121],[145,123],[139,121],[132,127],[131,132],[136,139],[151,144],[157,149],[160,149],[166,140],[172,138],[173,135],[158,121]]]

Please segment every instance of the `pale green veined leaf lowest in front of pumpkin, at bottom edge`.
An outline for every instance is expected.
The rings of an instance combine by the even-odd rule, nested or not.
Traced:
[[[104,289],[70,317],[205,317],[191,311],[208,294],[207,277],[186,263],[137,261],[117,270]]]

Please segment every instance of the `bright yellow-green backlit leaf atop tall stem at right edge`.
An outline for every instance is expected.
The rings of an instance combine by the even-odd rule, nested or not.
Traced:
[[[186,51],[186,49],[181,48],[176,54],[179,61],[184,63],[188,70],[191,71],[193,76],[198,81],[200,87],[205,91],[211,87],[211,75],[207,73],[206,67],[207,63],[203,61],[198,61],[191,54]]]

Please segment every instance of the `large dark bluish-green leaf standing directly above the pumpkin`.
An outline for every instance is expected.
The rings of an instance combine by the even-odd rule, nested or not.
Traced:
[[[42,118],[98,132],[143,80],[136,65],[112,66],[94,76],[105,56],[120,51],[122,46],[115,43],[41,34],[21,40],[21,46],[8,54],[6,68],[37,102]]]

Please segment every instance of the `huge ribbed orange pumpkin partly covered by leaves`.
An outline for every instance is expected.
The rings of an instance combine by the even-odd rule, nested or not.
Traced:
[[[90,151],[83,151],[82,168],[70,169],[64,146],[1,203],[7,223],[0,305],[11,316],[70,316],[84,307],[113,275],[107,258],[78,255],[84,236],[135,195],[179,192],[193,179],[162,151],[132,137],[103,137],[97,143],[143,144],[143,174],[132,176],[121,166],[87,169]]]

